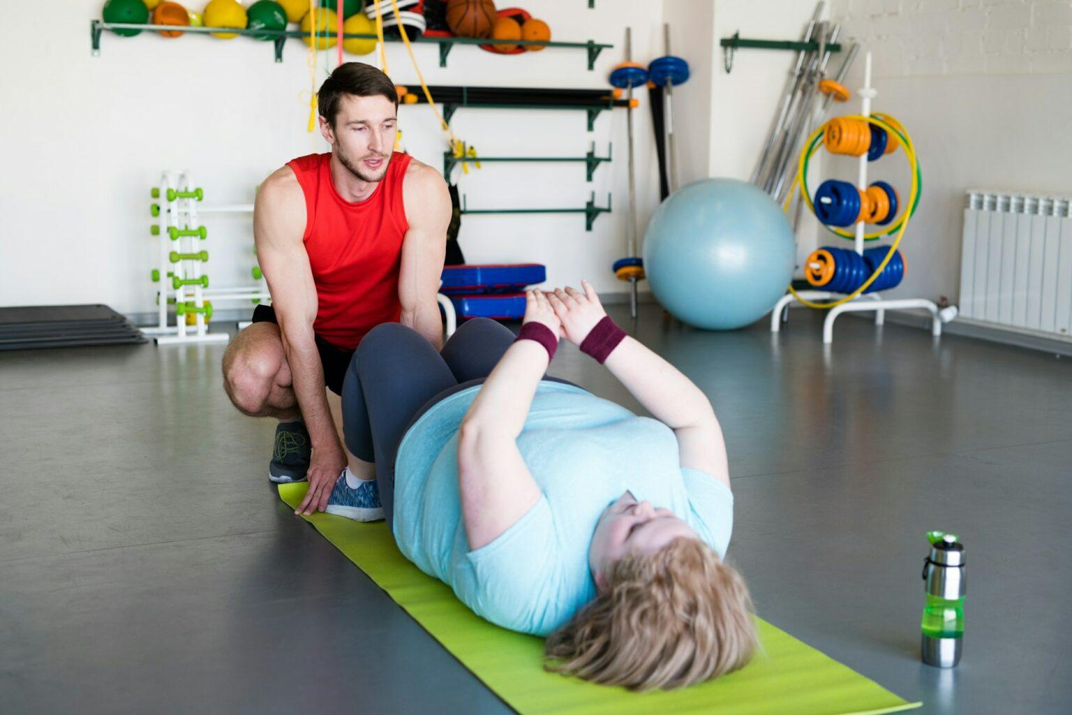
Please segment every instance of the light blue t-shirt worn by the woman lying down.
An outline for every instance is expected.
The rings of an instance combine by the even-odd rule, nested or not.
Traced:
[[[673,431],[579,387],[542,381],[518,449],[544,496],[490,543],[470,551],[458,489],[458,427],[480,386],[431,407],[406,432],[394,472],[394,538],[422,571],[494,624],[537,636],[595,598],[589,546],[625,490],[672,510],[719,556],[733,495],[680,466]]]

